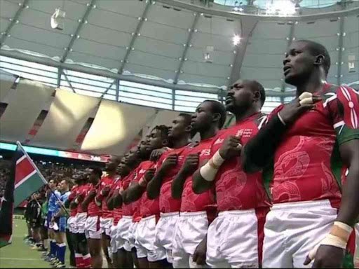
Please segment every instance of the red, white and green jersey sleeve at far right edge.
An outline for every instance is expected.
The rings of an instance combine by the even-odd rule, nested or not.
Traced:
[[[335,93],[327,95],[323,106],[330,115],[339,145],[359,139],[359,92],[339,86]]]

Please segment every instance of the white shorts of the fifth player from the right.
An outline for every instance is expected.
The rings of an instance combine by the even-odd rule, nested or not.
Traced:
[[[161,261],[166,258],[164,249],[155,246],[156,216],[142,218],[135,231],[135,247],[138,258],[145,258],[150,262]]]

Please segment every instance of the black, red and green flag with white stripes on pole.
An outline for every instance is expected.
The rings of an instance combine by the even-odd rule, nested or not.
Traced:
[[[47,184],[20,142],[17,144],[10,178],[6,182],[4,197],[0,200],[0,247],[11,244],[14,207]]]

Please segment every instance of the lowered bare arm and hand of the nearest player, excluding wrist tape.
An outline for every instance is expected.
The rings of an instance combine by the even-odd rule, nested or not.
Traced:
[[[349,173],[341,195],[341,206],[336,221],[353,227],[359,216],[359,139],[345,142],[339,146],[342,160],[348,166]],[[344,249],[328,245],[318,248],[313,268],[341,268]],[[309,258],[304,264],[308,264]]]

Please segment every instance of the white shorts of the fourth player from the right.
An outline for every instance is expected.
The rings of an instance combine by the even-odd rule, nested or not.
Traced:
[[[173,263],[172,242],[178,219],[179,212],[161,213],[156,225],[156,240],[154,243],[158,249],[165,251],[169,263]]]

